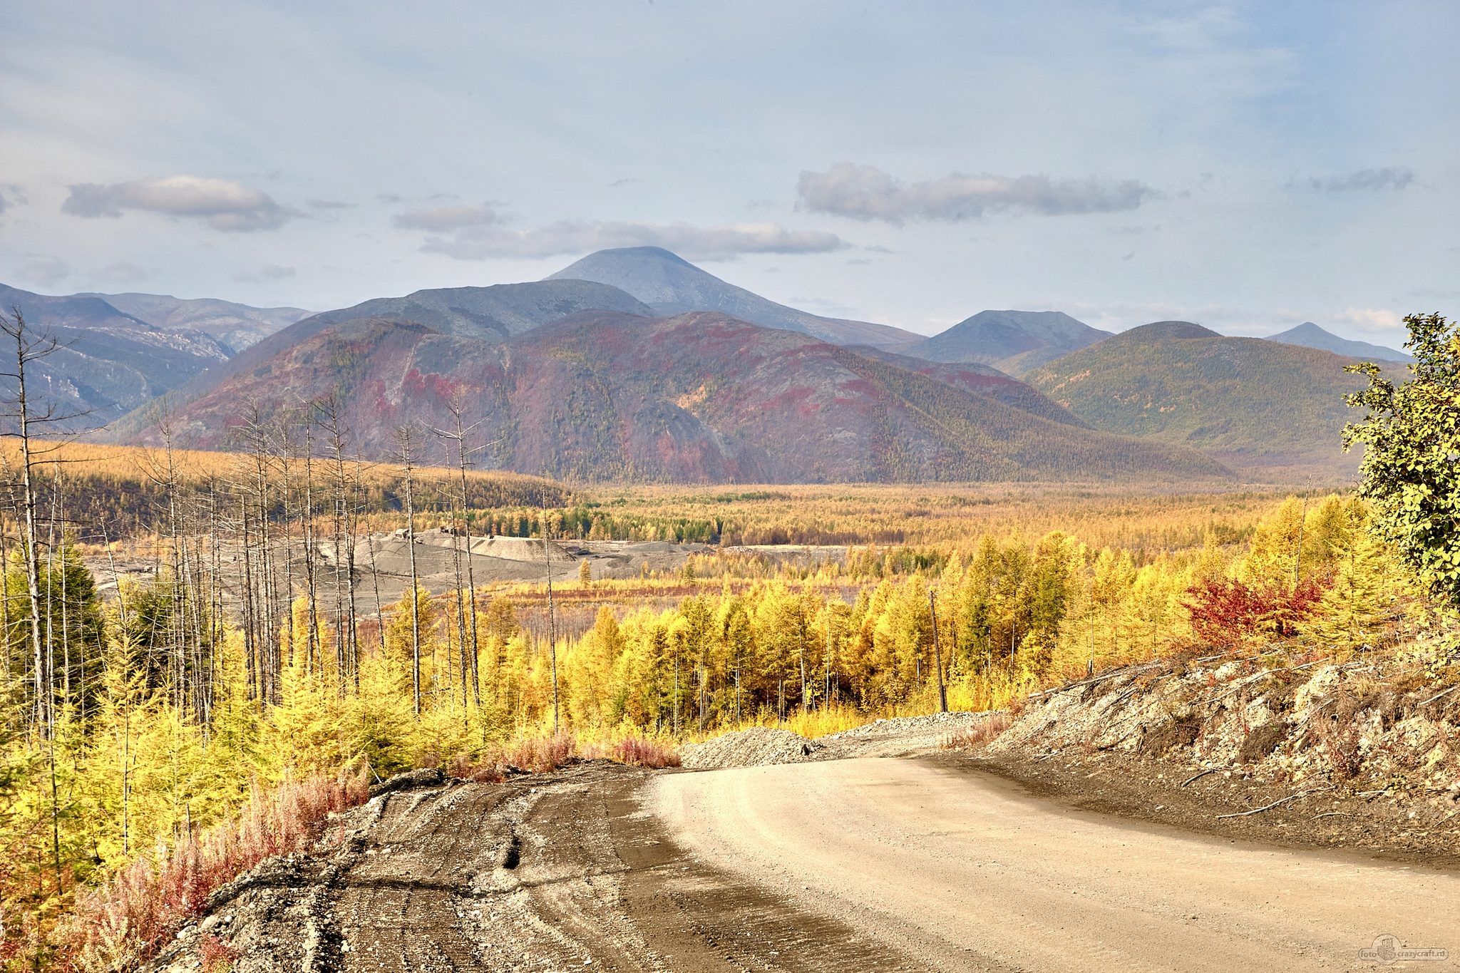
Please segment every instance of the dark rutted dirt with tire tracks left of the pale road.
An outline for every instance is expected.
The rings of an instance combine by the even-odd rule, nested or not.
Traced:
[[[210,932],[238,973],[920,969],[686,853],[639,804],[651,776],[590,761],[384,794],[342,817],[323,853],[234,883],[149,966],[194,970]]]

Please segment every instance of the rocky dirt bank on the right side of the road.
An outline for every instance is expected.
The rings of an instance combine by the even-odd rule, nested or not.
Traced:
[[[1278,652],[1130,665],[1032,696],[975,760],[1143,820],[1453,862],[1460,693],[1406,665]]]

